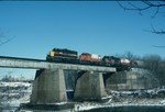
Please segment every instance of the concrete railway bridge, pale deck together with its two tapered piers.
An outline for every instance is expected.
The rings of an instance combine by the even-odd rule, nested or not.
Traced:
[[[32,104],[67,101],[64,70],[78,70],[74,99],[101,99],[106,96],[102,72],[116,68],[76,64],[50,63],[43,59],[0,56],[0,67],[37,69],[33,82]]]

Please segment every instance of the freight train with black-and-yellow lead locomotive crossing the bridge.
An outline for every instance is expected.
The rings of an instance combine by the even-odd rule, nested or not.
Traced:
[[[135,60],[129,60],[114,56],[102,57],[101,55],[90,53],[82,53],[78,56],[78,52],[67,48],[53,48],[47,54],[46,60],[65,64],[116,67],[117,70],[130,70],[131,67],[138,66]]]

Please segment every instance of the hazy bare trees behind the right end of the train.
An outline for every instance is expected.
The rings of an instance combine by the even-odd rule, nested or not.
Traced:
[[[131,52],[117,54],[116,56],[143,61],[143,68],[151,72],[151,78],[156,78],[161,86],[165,86],[165,58],[157,54],[144,55],[141,57]]]

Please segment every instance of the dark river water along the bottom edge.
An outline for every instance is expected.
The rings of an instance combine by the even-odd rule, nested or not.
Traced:
[[[18,110],[18,109],[0,109],[0,112],[57,112],[53,110]],[[91,109],[86,111],[63,110],[58,112],[165,112],[164,105],[124,105]]]

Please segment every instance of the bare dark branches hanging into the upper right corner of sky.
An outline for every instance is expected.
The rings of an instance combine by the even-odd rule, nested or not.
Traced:
[[[142,0],[140,1],[140,3],[136,3],[134,1],[130,2],[119,2],[117,1],[118,4],[123,9],[123,10],[128,10],[128,11],[138,11],[141,15],[143,15],[143,13],[145,11],[152,11],[152,18],[155,18],[157,14],[162,14],[163,16],[165,16],[165,0],[161,0],[161,1],[150,1],[150,0]],[[153,12],[154,10],[154,12]],[[152,33],[155,34],[165,34],[165,30],[155,30],[154,26],[152,25],[151,30],[147,30]]]

